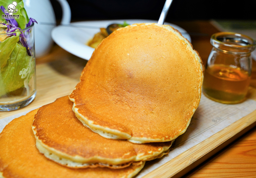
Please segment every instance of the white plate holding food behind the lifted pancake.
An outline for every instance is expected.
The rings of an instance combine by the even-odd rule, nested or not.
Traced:
[[[100,28],[106,28],[110,24],[123,24],[126,21],[128,24],[135,23],[157,23],[156,20],[96,20],[96,21],[83,21],[73,22],[70,26],[57,26],[51,32],[51,37],[60,47],[69,53],[76,55],[80,58],[89,60],[94,48],[85,45],[85,43],[94,36],[95,33],[100,31]],[[165,22],[164,24],[170,25],[179,30],[181,34],[191,42],[189,34],[181,27]],[[88,27],[88,28],[87,28]],[[92,28],[90,28],[92,27]]]

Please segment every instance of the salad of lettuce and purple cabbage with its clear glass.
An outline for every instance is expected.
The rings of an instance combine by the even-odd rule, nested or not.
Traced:
[[[28,105],[36,95],[36,20],[28,18],[22,0],[0,0],[0,5],[0,111],[9,111]]]

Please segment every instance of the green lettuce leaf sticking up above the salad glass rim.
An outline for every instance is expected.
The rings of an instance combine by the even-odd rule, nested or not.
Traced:
[[[3,7],[5,7],[5,9],[7,9],[9,4],[12,4],[14,0],[0,0],[0,5],[2,5]],[[17,3],[16,9],[18,9],[18,12],[14,13],[15,15],[20,15],[20,18],[15,18],[15,20],[18,23],[19,28],[24,29],[26,28],[26,24],[29,21],[28,18],[28,14],[24,8],[24,3],[22,0],[15,0]],[[40,0],[38,0],[40,1]],[[0,10],[1,11],[1,10]],[[1,18],[2,18],[2,14],[4,14],[3,12],[1,13]],[[4,21],[5,19],[1,19],[2,21]]]

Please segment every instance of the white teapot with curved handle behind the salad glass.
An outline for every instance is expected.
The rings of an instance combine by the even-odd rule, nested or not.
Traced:
[[[67,25],[71,20],[71,10],[66,0],[57,0],[61,4],[61,24]],[[53,44],[51,30],[56,26],[55,14],[49,0],[23,0],[28,17],[34,18],[36,57],[47,54]]]

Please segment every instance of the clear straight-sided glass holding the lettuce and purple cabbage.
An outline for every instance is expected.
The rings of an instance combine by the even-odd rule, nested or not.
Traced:
[[[0,111],[17,110],[36,96],[34,23],[0,41]]]

